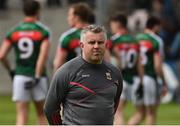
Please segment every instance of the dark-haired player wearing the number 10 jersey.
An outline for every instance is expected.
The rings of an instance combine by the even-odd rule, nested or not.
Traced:
[[[142,90],[143,67],[140,63],[140,46],[127,29],[127,17],[123,13],[116,13],[110,19],[112,36],[112,53],[123,75],[123,91],[115,114],[114,124],[124,125],[123,110],[127,101],[132,100],[136,90]],[[138,83],[141,83],[137,87]],[[139,97],[142,98],[142,92]]]

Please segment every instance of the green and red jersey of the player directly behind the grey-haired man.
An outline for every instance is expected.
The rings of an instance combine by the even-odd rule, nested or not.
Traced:
[[[64,32],[59,39],[59,48],[68,52],[66,61],[69,61],[76,56],[80,55],[80,35],[81,30],[78,28],[71,28]]]

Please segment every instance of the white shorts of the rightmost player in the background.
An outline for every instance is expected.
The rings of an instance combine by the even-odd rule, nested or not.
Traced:
[[[138,85],[136,85],[135,90]],[[133,102],[135,105],[156,105],[159,102],[158,92],[159,87],[156,80],[153,77],[145,75],[143,77],[143,91],[144,96],[143,99],[137,99],[134,95]]]

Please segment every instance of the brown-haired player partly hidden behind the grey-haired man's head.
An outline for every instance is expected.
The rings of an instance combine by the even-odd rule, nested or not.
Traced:
[[[94,23],[94,14],[85,3],[73,4],[68,10],[67,21],[71,29],[64,32],[57,47],[54,71],[62,64],[80,55],[80,33],[83,27]]]

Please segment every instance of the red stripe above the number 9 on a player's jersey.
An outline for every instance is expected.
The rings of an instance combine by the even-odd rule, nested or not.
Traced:
[[[28,37],[33,41],[39,41],[42,39],[42,33],[39,31],[17,31],[11,36],[13,42],[17,42],[20,38]]]

